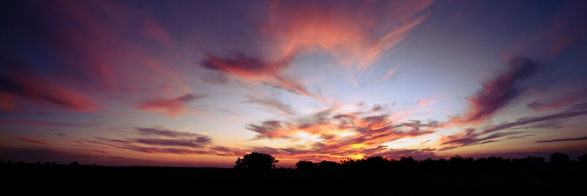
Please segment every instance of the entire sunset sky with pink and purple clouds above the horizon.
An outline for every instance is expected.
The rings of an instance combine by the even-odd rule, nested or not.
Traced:
[[[586,1],[4,1],[0,160],[587,153]]]

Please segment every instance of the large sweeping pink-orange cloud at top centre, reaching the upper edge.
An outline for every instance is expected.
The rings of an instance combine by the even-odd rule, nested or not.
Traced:
[[[421,14],[432,1],[419,2],[267,2],[255,5],[245,26],[251,30],[229,39],[251,40],[217,52],[204,48],[201,65],[321,101],[330,100],[308,91],[302,81],[284,74],[301,53],[325,51],[335,64],[365,70],[396,47],[411,29],[427,18]],[[352,14],[350,14],[352,13]],[[222,42],[223,40],[219,40]],[[242,42],[242,41],[241,41]],[[216,51],[216,52],[213,52]],[[246,53],[246,54],[245,54]],[[393,73],[390,71],[384,78]],[[205,80],[216,81],[216,80]],[[383,79],[382,79],[383,80]]]

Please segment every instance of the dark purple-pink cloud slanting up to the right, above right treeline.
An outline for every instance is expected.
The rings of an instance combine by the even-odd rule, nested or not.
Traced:
[[[528,78],[537,64],[527,58],[514,58],[507,63],[510,70],[484,82],[483,88],[477,90],[472,97],[467,97],[467,113],[451,119],[446,122],[447,125],[481,123],[525,91],[518,82]]]

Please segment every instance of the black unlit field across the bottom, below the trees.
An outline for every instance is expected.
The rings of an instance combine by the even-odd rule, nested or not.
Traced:
[[[377,177],[322,176],[320,171],[252,172],[193,167],[104,167],[0,164],[6,188],[63,193],[124,191],[190,195],[586,195],[587,166],[438,175],[396,171]],[[370,177],[371,176],[371,177]],[[6,189],[5,188],[5,189]]]

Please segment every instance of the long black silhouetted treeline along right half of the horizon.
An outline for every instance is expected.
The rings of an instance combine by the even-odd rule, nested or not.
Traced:
[[[399,160],[373,156],[364,159],[344,159],[340,163],[323,160],[318,163],[299,161],[296,167],[300,170],[313,170],[313,178],[377,178],[390,176],[478,176],[486,173],[515,173],[519,169],[559,169],[587,164],[587,154],[579,157],[579,161],[569,160],[569,156],[554,153],[551,162],[544,157],[528,156],[524,159],[503,159],[489,157],[474,160],[473,157],[455,155],[446,160],[426,159],[415,160],[413,157],[402,157]]]

